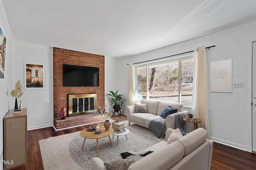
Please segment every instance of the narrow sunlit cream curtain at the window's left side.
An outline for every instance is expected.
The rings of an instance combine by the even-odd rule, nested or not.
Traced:
[[[135,68],[133,63],[130,65],[130,89],[129,89],[129,106],[134,105],[134,91],[135,91]]]

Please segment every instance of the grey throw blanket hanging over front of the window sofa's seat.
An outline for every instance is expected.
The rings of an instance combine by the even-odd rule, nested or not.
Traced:
[[[158,138],[160,138],[160,136],[164,136],[164,133],[166,131],[165,119],[153,119],[149,122],[148,129],[150,129]]]

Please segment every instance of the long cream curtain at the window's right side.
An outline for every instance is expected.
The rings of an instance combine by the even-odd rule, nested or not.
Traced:
[[[194,75],[192,114],[202,119],[199,126],[208,132],[210,138],[209,111],[208,111],[208,66],[207,51],[205,46],[198,47],[194,51]]]

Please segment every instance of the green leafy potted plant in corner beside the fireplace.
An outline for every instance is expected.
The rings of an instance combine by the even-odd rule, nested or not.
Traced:
[[[109,91],[110,94],[106,94],[106,96],[111,96],[110,98],[108,98],[108,100],[110,101],[110,104],[113,105],[113,109],[115,112],[120,111],[121,107],[123,106],[125,99],[122,98],[122,94],[117,94],[118,90],[114,93],[113,91]]]

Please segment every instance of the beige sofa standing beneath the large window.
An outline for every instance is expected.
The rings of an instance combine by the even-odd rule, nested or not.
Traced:
[[[182,111],[183,104],[174,102],[164,102],[156,100],[141,100],[141,104],[147,104],[148,113],[135,113],[135,105],[126,106],[127,120],[132,123],[144,126],[148,128],[150,121],[153,119],[162,118],[160,115],[164,108],[171,106],[173,109],[178,109],[177,113],[184,113],[185,117],[188,116],[188,111]],[[176,129],[174,115],[168,115],[165,120],[166,129]]]

